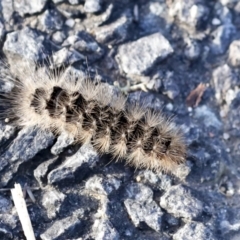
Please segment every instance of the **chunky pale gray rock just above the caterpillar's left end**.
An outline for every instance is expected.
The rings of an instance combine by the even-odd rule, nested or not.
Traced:
[[[16,60],[16,57],[18,57],[21,60],[39,61],[46,58],[46,55],[43,54],[43,52],[47,52],[45,44],[47,44],[47,41],[43,35],[29,27],[25,27],[22,30],[7,34],[3,52],[8,60]],[[14,60],[12,61],[15,64]]]

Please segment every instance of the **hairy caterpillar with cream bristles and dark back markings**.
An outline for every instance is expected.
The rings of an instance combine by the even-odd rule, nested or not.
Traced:
[[[16,126],[38,126],[76,143],[91,142],[100,154],[125,159],[135,168],[173,172],[184,163],[179,127],[162,113],[129,104],[101,82],[30,66],[9,70],[14,87],[1,95],[4,116]]]

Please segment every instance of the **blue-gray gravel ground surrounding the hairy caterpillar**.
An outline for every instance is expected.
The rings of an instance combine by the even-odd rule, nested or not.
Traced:
[[[1,122],[1,239],[25,239],[15,182],[36,239],[240,239],[240,2],[2,0],[0,43],[10,66],[52,55],[175,116],[188,146],[176,177]]]

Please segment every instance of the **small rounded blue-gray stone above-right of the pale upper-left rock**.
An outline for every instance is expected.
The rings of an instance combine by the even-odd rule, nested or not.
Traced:
[[[41,25],[44,31],[52,32],[62,30],[64,23],[63,16],[55,9],[46,10],[40,17]]]

